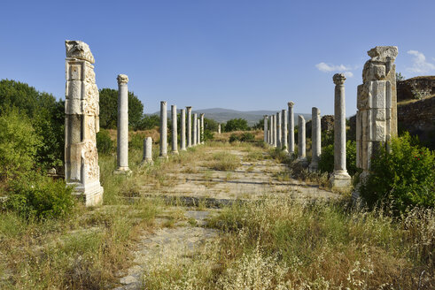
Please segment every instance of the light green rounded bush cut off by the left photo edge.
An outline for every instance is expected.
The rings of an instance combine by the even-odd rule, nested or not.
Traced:
[[[16,110],[0,115],[0,180],[33,169],[41,144],[26,116]]]

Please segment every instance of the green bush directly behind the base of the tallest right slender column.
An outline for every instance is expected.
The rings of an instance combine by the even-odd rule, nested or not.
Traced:
[[[356,142],[346,142],[346,169],[350,175],[361,170],[356,167]],[[334,171],[334,144],[327,145],[322,148],[322,154],[319,160],[319,170],[321,172],[333,172]]]

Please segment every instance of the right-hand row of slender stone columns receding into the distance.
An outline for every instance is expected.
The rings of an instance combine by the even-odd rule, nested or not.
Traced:
[[[345,105],[345,80],[343,73],[333,76],[335,84],[334,94],[334,172],[331,177],[332,187],[350,186],[351,177],[346,171],[346,105]],[[283,149],[290,155],[295,152],[294,143],[294,113],[293,102],[289,102],[288,110],[276,112],[274,115],[264,116],[264,141],[270,146]],[[304,116],[298,116],[298,162],[307,164],[306,156],[306,121]],[[308,165],[310,171],[319,168],[322,153],[322,127],[320,110],[312,109],[312,158]]]

